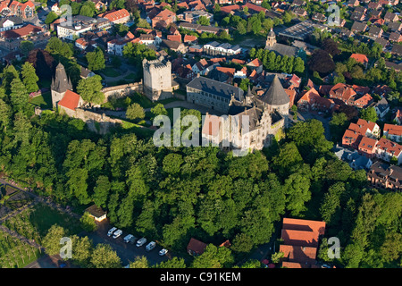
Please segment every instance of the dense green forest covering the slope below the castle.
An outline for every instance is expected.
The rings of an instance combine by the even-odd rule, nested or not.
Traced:
[[[336,265],[401,265],[400,193],[370,188],[364,171],[339,161],[319,121],[297,122],[285,139],[243,157],[155,147],[130,130],[100,137],[66,115],[36,116],[20,72],[8,66],[2,78],[0,172],[40,195],[77,209],[95,203],[116,226],[176,251],[191,237],[230,240],[239,257],[272,240],[283,216],[323,220],[325,237],[340,240]],[[325,248],[319,258],[331,261]]]

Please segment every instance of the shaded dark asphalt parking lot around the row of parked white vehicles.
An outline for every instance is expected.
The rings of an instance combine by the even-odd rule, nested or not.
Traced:
[[[98,228],[96,231],[85,234],[91,239],[94,245],[98,243],[109,244],[117,253],[117,255],[121,258],[121,264],[123,266],[128,265],[130,262],[133,262],[136,257],[145,256],[147,257],[148,263],[150,265],[155,265],[161,263],[163,261],[168,260],[171,257],[171,253],[167,253],[165,256],[159,256],[159,250],[162,249],[160,245],[156,244],[156,247],[151,251],[146,250],[146,246],[151,240],[147,238],[147,243],[145,243],[141,247],[137,247],[135,243],[125,243],[124,237],[129,234],[129,232],[123,231],[121,236],[117,239],[113,239],[113,236],[108,237],[107,231],[109,231],[113,225],[108,222],[97,223]],[[140,239],[138,233],[131,233],[137,239]]]

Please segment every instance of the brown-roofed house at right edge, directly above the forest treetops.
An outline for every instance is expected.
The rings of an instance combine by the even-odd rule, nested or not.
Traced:
[[[367,180],[370,181],[373,187],[401,190],[402,168],[377,161],[367,172]]]

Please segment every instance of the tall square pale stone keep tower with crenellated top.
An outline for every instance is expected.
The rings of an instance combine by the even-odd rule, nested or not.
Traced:
[[[152,101],[172,97],[172,63],[160,56],[154,61],[142,61],[144,93]]]

